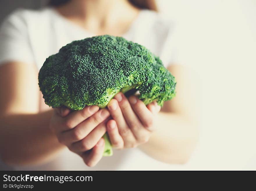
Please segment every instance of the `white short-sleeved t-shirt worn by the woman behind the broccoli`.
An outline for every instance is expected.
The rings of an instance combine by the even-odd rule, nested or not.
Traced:
[[[160,56],[163,64],[167,66],[175,63],[173,29],[172,22],[168,22],[159,13],[142,10],[122,36],[147,47]],[[45,59],[57,53],[61,47],[73,40],[91,36],[95,35],[65,19],[53,8],[19,9],[9,15],[1,26],[0,64],[4,61],[21,61],[35,64],[39,71]],[[65,149],[56,159],[45,165],[15,169],[168,170],[171,168],[172,165],[154,160],[140,149],[133,148],[114,150],[113,156],[103,157],[93,168],[87,167],[78,155]]]

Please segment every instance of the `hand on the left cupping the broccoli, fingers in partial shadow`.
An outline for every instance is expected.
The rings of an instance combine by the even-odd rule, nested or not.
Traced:
[[[61,144],[92,167],[102,158],[105,145],[102,136],[106,133],[109,116],[107,109],[99,110],[98,106],[86,106],[73,112],[66,107],[54,108],[49,127]]]

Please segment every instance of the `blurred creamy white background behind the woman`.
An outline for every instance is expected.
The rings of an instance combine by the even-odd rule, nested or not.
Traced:
[[[5,7],[0,22],[15,7],[39,8],[46,2],[0,1]],[[256,170],[256,1],[157,3],[177,24],[176,60],[191,67],[200,82],[198,146],[189,163],[170,169]]]

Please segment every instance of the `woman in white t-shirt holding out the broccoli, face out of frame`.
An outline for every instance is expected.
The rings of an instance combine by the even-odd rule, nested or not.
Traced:
[[[16,169],[56,170],[97,163],[95,169],[166,169],[152,158],[186,163],[197,140],[193,83],[190,72],[171,63],[173,25],[146,9],[155,9],[154,1],[63,0],[51,5],[18,10],[1,27],[2,161]],[[123,36],[160,56],[177,79],[177,97],[160,112],[155,102],[145,106],[122,93],[101,110],[88,106],[70,113],[46,106],[37,79],[45,58],[73,40],[103,34]],[[102,158],[106,131],[118,150]]]

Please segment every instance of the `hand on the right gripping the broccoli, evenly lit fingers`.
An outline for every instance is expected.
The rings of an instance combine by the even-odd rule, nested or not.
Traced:
[[[120,92],[108,104],[113,119],[107,122],[107,132],[116,149],[133,148],[147,142],[154,130],[154,116],[161,109],[155,101],[145,106],[136,96],[128,99]]]

